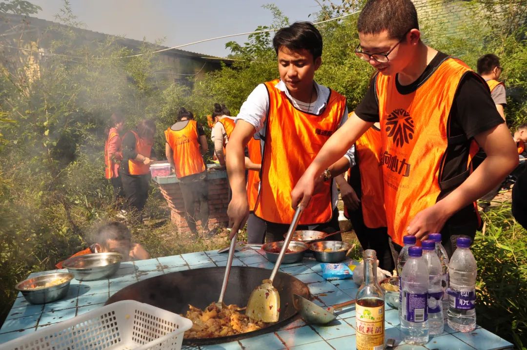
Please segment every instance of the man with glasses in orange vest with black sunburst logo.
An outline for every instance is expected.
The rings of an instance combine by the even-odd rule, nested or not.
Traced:
[[[518,164],[509,129],[485,81],[421,41],[411,0],[369,0],[357,27],[355,54],[377,74],[355,112],[298,181],[292,205],[306,206],[315,179],[380,122],[384,205],[394,248],[402,248],[405,235],[423,240],[441,232],[452,255],[455,239],[474,238],[481,225],[475,201]],[[487,157],[471,172],[480,146]]]

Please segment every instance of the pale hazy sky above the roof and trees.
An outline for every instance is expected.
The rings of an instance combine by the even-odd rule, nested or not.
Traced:
[[[42,7],[36,17],[56,21],[63,0],[31,0]],[[319,11],[315,0],[70,0],[73,13],[84,28],[127,38],[177,46],[229,34],[252,32],[259,25],[271,25],[273,18],[265,4],[275,4],[289,22],[313,21],[309,14]],[[35,16],[35,15],[33,15]],[[236,36],[182,47],[181,50],[227,56],[229,41],[243,43]]]

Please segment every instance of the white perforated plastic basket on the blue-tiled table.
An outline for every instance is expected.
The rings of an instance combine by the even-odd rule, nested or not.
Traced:
[[[191,327],[188,318],[123,300],[0,344],[0,350],[178,350]]]

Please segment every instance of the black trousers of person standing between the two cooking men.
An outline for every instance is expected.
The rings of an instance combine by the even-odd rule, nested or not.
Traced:
[[[388,242],[388,228],[369,228],[364,225],[362,205],[357,210],[348,210],[348,216],[360,246],[364,250],[375,250],[379,267],[386,271],[392,271],[395,268],[395,263]]]

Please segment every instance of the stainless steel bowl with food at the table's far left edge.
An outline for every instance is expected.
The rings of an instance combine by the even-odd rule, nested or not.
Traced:
[[[46,287],[47,283],[52,283],[58,278],[65,278],[65,281]],[[42,275],[19,282],[15,289],[21,291],[31,304],[51,303],[66,296],[72,279],[73,275],[68,273]]]

